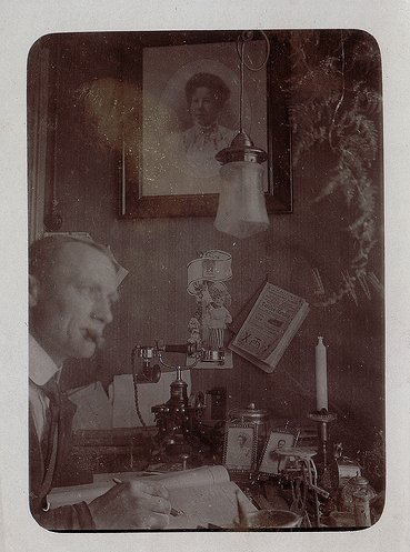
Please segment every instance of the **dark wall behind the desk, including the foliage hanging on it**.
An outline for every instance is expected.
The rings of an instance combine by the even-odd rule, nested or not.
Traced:
[[[92,375],[108,383],[112,374],[130,372],[137,343],[183,342],[194,310],[186,265],[199,251],[220,249],[232,254],[233,315],[267,275],[306,298],[311,311],[274,373],[236,357],[232,370],[194,372],[193,388],[226,387],[229,409],[256,402],[274,418],[306,419],[314,408],[314,345],[324,335],[330,409],[351,442],[360,435],[358,446],[369,448],[384,415],[379,53],[360,32],[294,31],[289,40],[292,76],[282,86],[293,121],[293,213],[270,215],[269,230],[246,240],[219,233],[208,217],[119,220],[117,168],[96,129],[83,124],[78,90],[84,80],[118,74],[121,50],[109,36],[97,43],[66,37],[53,49],[61,230],[110,243],[129,270],[108,347],[92,362],[69,365],[66,379],[79,384]],[[36,80],[36,63],[31,71]]]

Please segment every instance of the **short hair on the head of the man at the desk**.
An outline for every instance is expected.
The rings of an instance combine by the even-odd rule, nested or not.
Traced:
[[[87,238],[73,238],[72,235],[54,234],[40,238],[31,243],[29,248],[29,274],[39,279],[47,278],[58,262],[61,250],[68,243],[83,243],[84,245],[97,249],[110,259],[117,271],[117,267],[112,261],[112,255],[104,245],[96,243]]]

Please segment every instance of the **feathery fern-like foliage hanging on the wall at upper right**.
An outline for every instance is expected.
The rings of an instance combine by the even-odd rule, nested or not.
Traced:
[[[368,270],[369,254],[381,238],[380,53],[361,31],[332,37],[323,31],[292,32],[291,46],[293,164],[307,152],[324,151],[329,170],[311,202],[338,195],[348,208],[347,231],[353,240],[339,290],[322,293],[317,305],[334,304],[347,294],[357,302],[358,284],[370,299],[371,285],[382,291]]]

